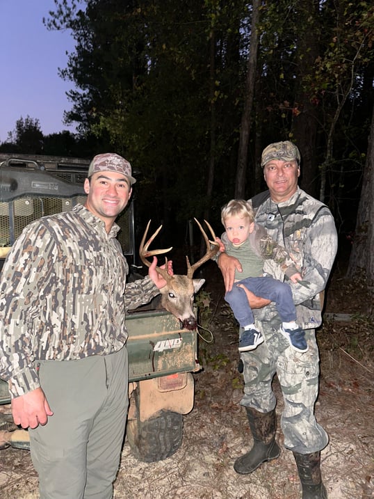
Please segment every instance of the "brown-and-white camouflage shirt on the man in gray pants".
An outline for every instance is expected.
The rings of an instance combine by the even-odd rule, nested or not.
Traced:
[[[12,397],[38,388],[39,359],[121,349],[125,310],[159,293],[148,277],[126,284],[118,230],[107,234],[103,221],[76,205],[31,223],[15,242],[0,280],[0,377]]]

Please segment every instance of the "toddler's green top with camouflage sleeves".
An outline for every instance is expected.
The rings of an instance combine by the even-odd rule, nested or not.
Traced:
[[[246,277],[260,277],[263,274],[265,260],[274,260],[282,269],[282,273],[288,277],[299,271],[284,247],[279,246],[268,235],[268,232],[257,223],[254,224],[254,230],[241,246],[234,246],[229,241],[226,232],[222,234],[221,239],[227,255],[234,256],[241,262],[243,272],[236,271],[235,278],[237,280]]]

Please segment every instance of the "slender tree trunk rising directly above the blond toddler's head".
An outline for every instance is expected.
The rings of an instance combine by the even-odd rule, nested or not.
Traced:
[[[250,142],[251,113],[254,98],[254,78],[256,75],[257,52],[259,47],[259,31],[257,29],[257,24],[259,24],[260,18],[260,5],[260,0],[253,0],[250,54],[248,55],[247,79],[245,81],[245,104],[241,118],[235,198],[245,198],[245,173],[247,172],[248,144]]]

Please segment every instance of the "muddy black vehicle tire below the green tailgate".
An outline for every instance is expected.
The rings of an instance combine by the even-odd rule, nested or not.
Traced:
[[[153,463],[172,456],[181,446],[183,415],[161,411],[147,421],[139,418],[127,422],[127,439],[136,459]]]

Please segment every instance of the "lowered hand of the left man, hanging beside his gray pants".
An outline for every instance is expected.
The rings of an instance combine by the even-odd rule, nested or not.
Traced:
[[[48,416],[53,415],[42,388],[12,399],[12,413],[15,425],[21,425],[22,428],[45,425]]]

